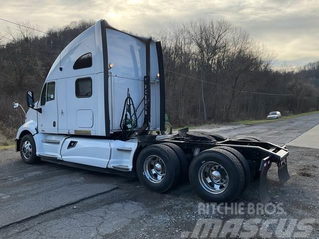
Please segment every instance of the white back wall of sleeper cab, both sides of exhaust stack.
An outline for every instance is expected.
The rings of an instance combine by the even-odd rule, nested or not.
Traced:
[[[143,116],[139,118],[137,128],[141,128],[145,122],[151,122],[151,127],[159,130],[160,122],[157,120],[157,116],[160,114],[157,112],[160,112],[160,92],[158,91],[160,87],[158,80],[156,80],[159,66],[155,41],[151,37],[140,37],[118,30],[106,21],[103,25],[105,26],[107,43],[107,49],[105,50],[107,57],[104,57],[104,60],[106,62],[107,59],[108,63],[114,64],[114,67],[107,74],[109,77],[107,83],[112,88],[111,91],[109,89],[109,104],[122,108],[128,88],[136,105],[140,105],[145,96],[151,99],[151,92],[152,94],[156,93],[154,97],[152,96],[152,101],[145,101],[146,103],[142,103],[142,106],[138,109],[137,115],[139,116],[143,113],[144,105],[147,105],[148,111],[144,111],[144,120]],[[152,47],[152,51],[150,51],[150,47]],[[152,55],[150,56],[150,54]],[[108,69],[108,65],[105,65],[106,69]],[[157,81],[155,84],[151,83],[152,87],[148,87],[151,90],[146,95],[144,95],[145,76],[149,76],[153,83]],[[112,93],[113,96],[111,96]],[[155,98],[158,98],[158,100]],[[118,123],[121,119],[120,114],[122,112],[119,113],[114,107],[109,109],[110,133],[121,131]]]

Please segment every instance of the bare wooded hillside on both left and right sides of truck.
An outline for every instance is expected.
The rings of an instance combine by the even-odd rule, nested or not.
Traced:
[[[18,101],[25,108],[27,90],[38,99],[55,58],[94,23],[72,22],[40,35],[36,26],[24,22],[27,27],[0,34],[0,133],[14,136],[24,116],[11,103]],[[274,53],[226,20],[170,24],[155,38],[162,43],[166,113],[174,126],[318,109],[319,62],[274,70]]]

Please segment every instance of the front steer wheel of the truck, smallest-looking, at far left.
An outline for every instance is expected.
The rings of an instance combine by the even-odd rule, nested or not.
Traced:
[[[26,134],[22,137],[20,155],[24,163],[35,164],[40,162],[40,158],[36,156],[35,142],[31,134]]]

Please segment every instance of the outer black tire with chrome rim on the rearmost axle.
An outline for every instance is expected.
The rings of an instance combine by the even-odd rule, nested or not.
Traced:
[[[231,202],[243,191],[245,172],[230,152],[211,148],[200,152],[189,166],[189,180],[197,195],[208,202]]]

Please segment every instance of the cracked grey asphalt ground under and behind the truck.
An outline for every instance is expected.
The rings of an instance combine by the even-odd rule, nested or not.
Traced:
[[[252,126],[212,125],[199,130],[234,138],[255,135],[284,144],[317,124],[319,114]],[[187,182],[165,194],[156,194],[136,179],[50,163],[26,165],[13,149],[0,151],[0,238],[180,238],[207,216],[223,222],[233,218],[317,220],[319,149],[289,149],[291,180],[280,184],[275,166],[268,173],[271,201],[282,203],[284,214],[227,216],[199,214],[198,206],[203,201]],[[243,202],[247,209],[250,202],[259,202],[257,192],[258,181],[252,182],[237,202]],[[318,221],[309,227],[313,227],[308,229],[309,237],[319,237]],[[276,236],[274,233],[270,237]],[[260,231],[258,237],[269,235]]]

